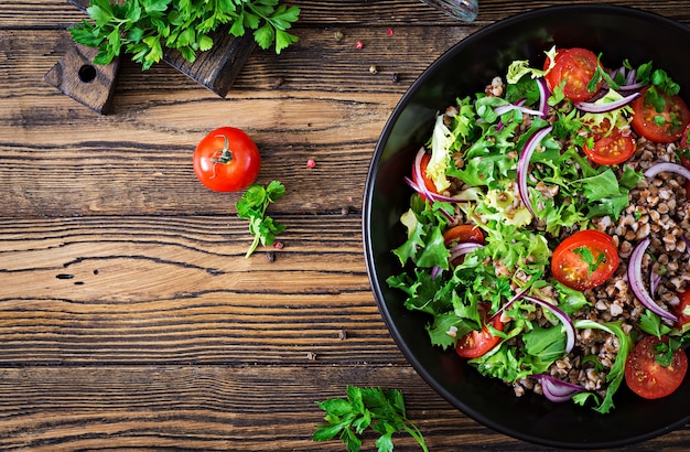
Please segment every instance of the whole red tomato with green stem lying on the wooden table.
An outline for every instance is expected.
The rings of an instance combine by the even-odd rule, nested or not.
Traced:
[[[196,177],[215,192],[237,192],[256,181],[261,157],[242,130],[222,127],[209,132],[194,150]]]

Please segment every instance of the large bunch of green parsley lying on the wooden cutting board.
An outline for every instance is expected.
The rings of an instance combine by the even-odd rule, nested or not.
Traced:
[[[300,14],[299,8],[279,0],[91,0],[86,11],[91,21],[69,32],[75,42],[98,47],[94,63],[108,64],[127,52],[144,71],[161,61],[165,47],[194,62],[197,52],[213,47],[209,33],[225,24],[235,36],[254,30],[261,49],[274,43],[280,53],[298,41],[288,30]]]

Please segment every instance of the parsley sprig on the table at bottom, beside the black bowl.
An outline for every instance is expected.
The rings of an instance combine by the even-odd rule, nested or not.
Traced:
[[[407,431],[428,452],[422,433],[406,415],[402,392],[396,389],[347,387],[347,399],[328,399],[316,402],[326,412],[328,424],[317,426],[314,441],[330,441],[339,434],[349,452],[362,449],[359,435],[367,428],[378,432],[379,452],[393,450],[392,434]]]

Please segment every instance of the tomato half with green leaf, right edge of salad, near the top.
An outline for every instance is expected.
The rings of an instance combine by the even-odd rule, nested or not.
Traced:
[[[676,96],[667,96],[660,89],[655,90],[665,99],[666,107],[661,111],[657,111],[651,104],[650,96],[647,96],[649,86],[640,92],[642,96],[633,100],[633,129],[656,143],[670,143],[678,140],[688,123],[690,123],[690,109],[683,99]],[[659,126],[657,120],[664,120],[664,125]]]

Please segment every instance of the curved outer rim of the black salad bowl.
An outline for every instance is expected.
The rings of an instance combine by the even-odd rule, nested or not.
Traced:
[[[370,282],[371,291],[374,293],[378,310],[393,341],[400,348],[401,353],[403,354],[408,363],[414,368],[418,375],[420,375],[422,379],[436,394],[439,394],[450,405],[459,409],[461,412],[463,412],[471,419],[499,433],[506,434],[508,437],[527,441],[527,442],[531,442],[535,444],[547,445],[547,446],[568,448],[568,449],[600,449],[600,448],[615,448],[615,446],[630,445],[634,443],[638,443],[638,442],[657,438],[664,433],[668,433],[672,430],[676,430],[682,427],[687,422],[689,422],[690,412],[688,413],[688,416],[686,416],[686,418],[679,419],[677,422],[666,426],[665,428],[651,430],[646,433],[630,434],[626,439],[614,440],[614,441],[573,443],[569,441],[552,441],[552,440],[539,438],[532,434],[515,431],[509,428],[505,428],[500,423],[495,422],[494,420],[487,418],[481,412],[470,407],[463,406],[450,390],[443,387],[443,385],[441,385],[424,368],[424,366],[421,365],[419,359],[411,352],[410,347],[402,341],[401,333],[399,332],[396,325],[396,322],[393,321],[393,319],[390,315],[390,312],[385,305],[385,302],[384,302],[385,298],[384,298],[381,288],[378,283],[378,279],[376,278],[376,269],[375,269],[375,262],[374,262],[375,251],[374,251],[373,244],[371,244],[371,238],[373,238],[371,237],[371,204],[373,204],[371,197],[374,193],[374,186],[376,183],[376,173],[379,168],[380,158],[384,151],[384,146],[387,142],[388,138],[390,137],[396,122],[400,118],[400,114],[402,111],[401,107],[408,104],[408,101],[417,95],[420,87],[423,85],[425,78],[428,78],[429,74],[433,72],[438,66],[442,66],[443,64],[445,64],[446,61],[452,60],[455,56],[455,54],[462,51],[465,46],[472,45],[473,42],[481,40],[486,34],[495,33],[498,30],[514,26],[518,22],[538,19],[545,15],[550,15],[552,13],[571,12],[575,14],[575,13],[582,13],[583,11],[586,11],[587,13],[626,14],[626,15],[634,15],[634,17],[644,18],[644,19],[651,19],[658,22],[659,24],[662,24],[671,29],[677,29],[679,32],[687,33],[690,35],[690,28],[688,28],[688,25],[683,25],[677,21],[673,21],[669,18],[666,18],[655,12],[645,11],[645,10],[640,10],[640,9],[627,7],[627,6],[593,3],[593,4],[582,4],[582,6],[580,4],[550,6],[550,7],[533,9],[527,12],[518,13],[509,18],[496,21],[465,36],[464,39],[462,39],[461,41],[456,42],[451,47],[449,47],[446,51],[444,51],[424,71],[422,71],[419,74],[419,76],[414,79],[414,82],[401,96],[400,100],[397,103],[396,107],[393,108],[392,114],[386,121],[384,129],[380,133],[380,137],[376,142],[376,147],[375,147],[375,150],[374,150],[370,163],[369,163],[369,169],[367,172],[367,179],[366,179],[365,190],[364,190],[364,200],[363,200],[362,228],[363,228],[363,245],[364,245],[367,276]]]

